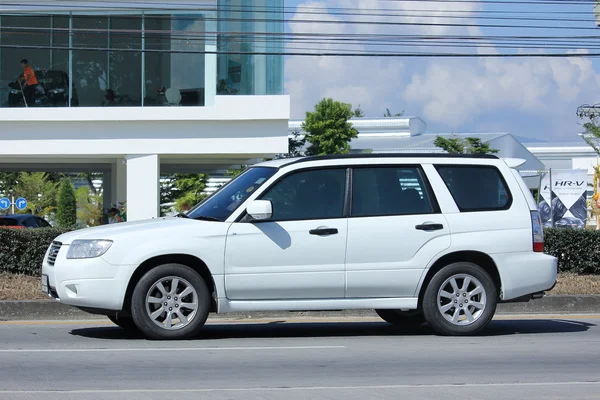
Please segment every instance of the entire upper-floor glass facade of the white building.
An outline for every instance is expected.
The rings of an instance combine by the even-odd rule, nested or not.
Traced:
[[[283,0],[0,13],[0,107],[205,106],[215,93],[283,94],[281,33]],[[22,59],[38,78],[35,96],[21,90]]]

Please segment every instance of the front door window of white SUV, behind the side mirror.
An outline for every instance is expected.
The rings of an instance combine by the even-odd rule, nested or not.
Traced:
[[[341,218],[346,192],[345,169],[293,173],[261,196],[273,204],[273,221]]]

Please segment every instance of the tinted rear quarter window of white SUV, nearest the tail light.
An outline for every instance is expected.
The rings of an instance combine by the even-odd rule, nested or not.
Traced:
[[[502,174],[488,165],[436,166],[462,212],[507,210],[512,198]]]

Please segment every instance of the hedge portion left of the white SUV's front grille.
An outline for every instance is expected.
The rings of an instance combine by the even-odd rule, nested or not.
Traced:
[[[0,273],[38,276],[52,241],[70,229],[0,229]]]

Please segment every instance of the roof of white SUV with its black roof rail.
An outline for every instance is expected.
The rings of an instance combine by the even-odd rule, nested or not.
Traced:
[[[283,168],[288,165],[311,162],[311,161],[328,161],[328,160],[364,160],[364,159],[382,159],[382,158],[446,158],[446,159],[495,159],[499,158],[493,154],[449,154],[449,153],[376,153],[376,154],[336,154],[326,156],[305,156],[305,157],[290,157],[279,158],[276,160],[264,161],[254,164],[254,167],[271,167]]]

